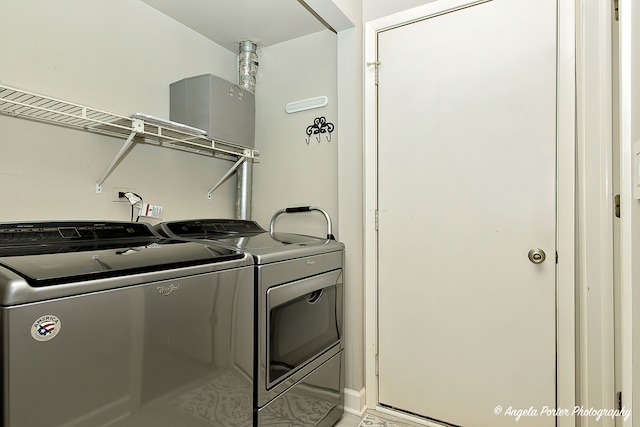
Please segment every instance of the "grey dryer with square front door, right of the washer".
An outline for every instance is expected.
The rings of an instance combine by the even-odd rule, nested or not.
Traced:
[[[328,215],[327,223],[326,238],[266,231],[245,220],[156,226],[166,236],[212,242],[254,259],[254,426],[327,427],[344,412],[344,245],[333,239]]]

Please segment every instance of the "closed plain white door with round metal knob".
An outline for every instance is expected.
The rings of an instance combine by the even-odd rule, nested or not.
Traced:
[[[556,401],[556,2],[447,11],[377,48],[379,402],[553,426],[515,415]]]

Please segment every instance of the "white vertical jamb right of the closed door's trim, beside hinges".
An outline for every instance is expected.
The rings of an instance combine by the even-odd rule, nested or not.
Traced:
[[[616,408],[614,222],[621,220],[613,210],[613,2],[577,3],[576,389],[582,407]],[[581,426],[618,421],[586,417]]]

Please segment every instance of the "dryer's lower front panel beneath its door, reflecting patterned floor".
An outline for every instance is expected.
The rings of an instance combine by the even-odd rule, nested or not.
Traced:
[[[290,408],[288,411],[282,408]],[[344,352],[340,351],[257,411],[260,426],[330,427],[344,414]]]

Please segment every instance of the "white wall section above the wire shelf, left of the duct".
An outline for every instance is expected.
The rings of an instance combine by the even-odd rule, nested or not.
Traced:
[[[236,81],[236,55],[137,0],[0,1],[0,83],[168,118],[169,83]]]

